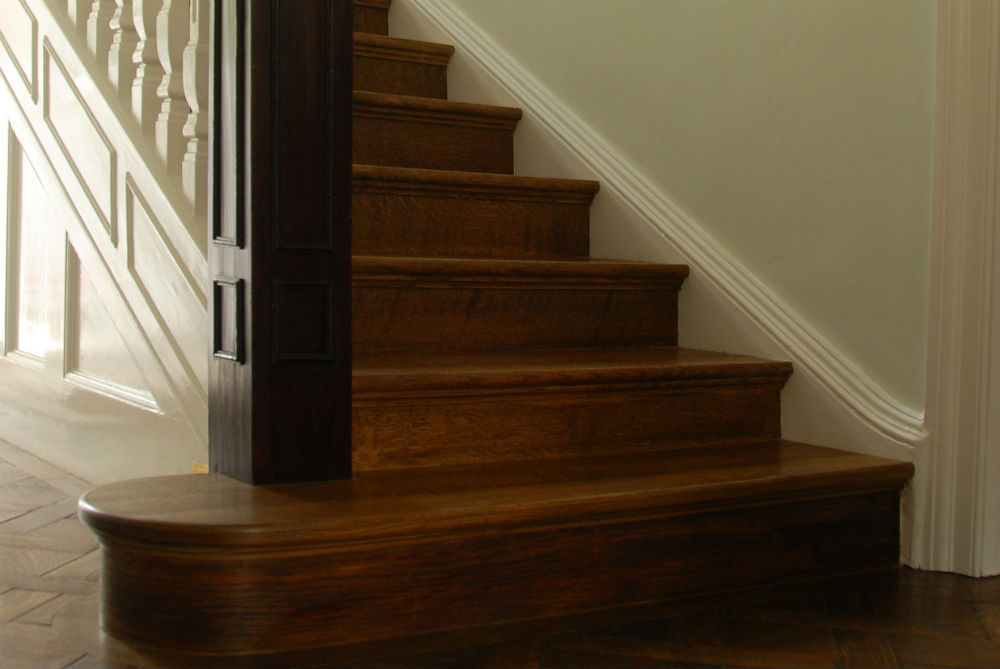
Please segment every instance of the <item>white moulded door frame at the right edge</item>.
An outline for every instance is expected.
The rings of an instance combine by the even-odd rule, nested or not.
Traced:
[[[1000,0],[939,0],[929,438],[909,564],[1000,573]],[[991,485],[992,483],[992,485]]]

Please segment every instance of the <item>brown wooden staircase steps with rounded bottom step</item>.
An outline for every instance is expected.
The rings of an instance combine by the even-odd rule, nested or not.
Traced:
[[[452,48],[387,12],[356,2],[355,476],[88,493],[106,630],[321,663],[896,566],[912,466],[782,440],[791,366],[678,347],[687,268],[587,258],[598,184],[514,175],[520,111],[448,101]]]

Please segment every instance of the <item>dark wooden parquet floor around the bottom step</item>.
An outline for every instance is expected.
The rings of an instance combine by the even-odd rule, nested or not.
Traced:
[[[620,471],[620,470],[619,470]],[[572,474],[572,472],[571,472]],[[24,506],[28,478],[64,496]],[[476,481],[470,481],[475,485]],[[0,545],[20,551],[94,551],[93,534],[66,502],[89,484],[0,442],[0,500],[21,503],[22,516],[0,522]],[[9,491],[9,493],[8,493]],[[65,507],[59,520],[54,507]],[[19,522],[32,518],[33,522]],[[34,529],[28,529],[29,527]],[[97,553],[87,556],[90,560]],[[6,557],[10,565],[23,558]],[[74,560],[70,563],[80,564]],[[2,571],[2,570],[0,570]],[[72,572],[72,573],[70,573]],[[143,654],[102,635],[99,586],[82,570],[0,578],[0,655],[7,666],[68,667],[887,667],[945,658],[945,666],[1000,666],[1000,578],[886,570],[870,576],[794,582],[726,596],[593,612],[558,622],[443,632],[281,655],[197,655],[179,642],[171,652]],[[10,588],[10,589],[7,589]],[[41,602],[38,606],[33,604]],[[10,618],[9,620],[5,620]],[[188,651],[182,653],[179,651]],[[175,652],[177,651],[177,652]]]

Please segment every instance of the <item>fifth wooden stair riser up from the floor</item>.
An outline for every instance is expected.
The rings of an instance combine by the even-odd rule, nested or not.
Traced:
[[[378,118],[354,113],[354,162],[513,174],[513,129]]]

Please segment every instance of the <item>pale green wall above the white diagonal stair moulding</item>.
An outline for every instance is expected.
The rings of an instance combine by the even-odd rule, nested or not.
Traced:
[[[923,408],[934,0],[452,2]]]

